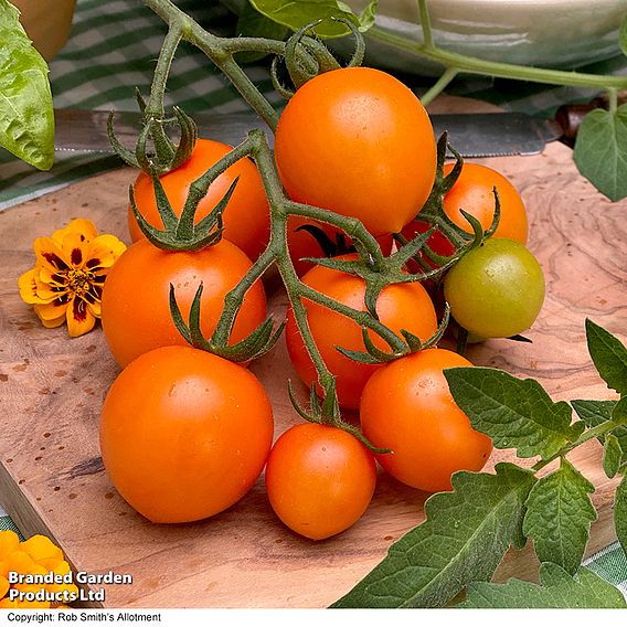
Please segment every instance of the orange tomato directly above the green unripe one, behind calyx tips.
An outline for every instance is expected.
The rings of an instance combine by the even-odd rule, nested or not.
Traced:
[[[448,174],[453,167],[453,163],[446,163],[444,173]],[[461,215],[461,209],[474,215],[487,231],[495,217],[495,187],[499,193],[501,214],[493,236],[527,244],[527,210],[518,190],[506,177],[487,166],[464,163],[459,178],[444,196],[444,211],[468,233],[472,233],[472,227]]]

